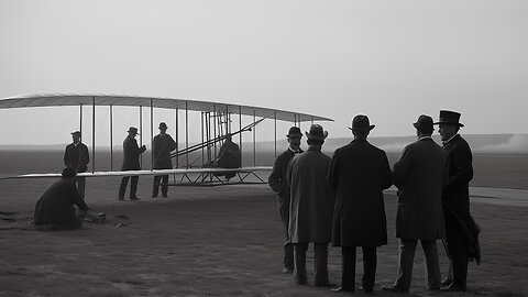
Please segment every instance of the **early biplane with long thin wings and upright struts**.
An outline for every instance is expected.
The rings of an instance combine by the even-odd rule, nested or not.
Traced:
[[[152,98],[135,96],[109,96],[109,95],[32,95],[0,99],[0,109],[14,108],[37,108],[37,107],[79,107],[79,130],[82,133],[82,112],[84,107],[91,107],[91,170],[80,173],[79,176],[85,177],[102,177],[102,176],[134,176],[134,175],[172,175],[174,183],[169,185],[226,185],[226,184],[249,184],[265,183],[256,173],[268,172],[270,166],[256,166],[256,127],[266,120],[274,121],[274,152],[277,154],[277,121],[292,122],[293,125],[300,127],[302,122],[316,121],[333,121],[332,119],[299,113],[286,110],[251,107],[242,105],[230,105],[215,101],[199,101],[173,98]],[[108,107],[110,123],[110,170],[97,170],[96,163],[96,107]],[[143,117],[142,112],[147,109],[150,117],[150,139],[151,143],[154,138],[154,112],[155,109],[174,110],[175,123],[178,125],[179,117],[185,117],[185,145],[182,146],[179,129],[176,127],[174,139],[176,141],[176,150],[172,153],[175,160],[175,166],[172,169],[153,169],[154,160],[151,157],[151,169],[142,170],[113,170],[113,109],[116,107],[136,107],[140,114],[140,134],[143,135]],[[189,144],[189,112],[200,114],[201,142]],[[184,116],[180,116],[183,113]],[[238,118],[238,130],[233,131],[232,118]],[[242,127],[242,118],[251,119],[251,123]],[[219,167],[215,162],[218,147],[223,144],[228,135],[238,135],[240,151],[242,151],[242,134],[252,132],[253,144],[253,166],[240,166],[235,168]],[[143,143],[143,140],[141,140]],[[89,144],[85,140],[85,144]],[[190,162],[189,156],[194,153],[201,152],[201,165]],[[235,176],[231,180],[220,178],[222,176]],[[32,173],[9,176],[4,178],[46,178],[58,177],[58,173]],[[252,178],[249,178],[252,177]],[[253,182],[249,182],[249,180]]]

